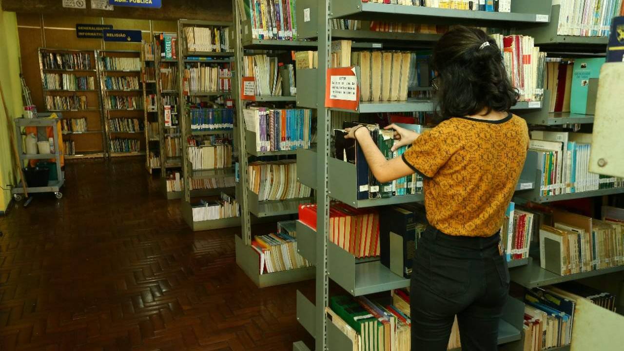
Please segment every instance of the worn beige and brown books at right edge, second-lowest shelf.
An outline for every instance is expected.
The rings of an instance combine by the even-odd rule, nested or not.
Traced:
[[[540,266],[558,275],[624,264],[624,216],[592,219],[552,210],[540,227]]]

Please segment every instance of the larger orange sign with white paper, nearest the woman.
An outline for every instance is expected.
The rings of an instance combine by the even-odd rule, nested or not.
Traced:
[[[327,70],[325,106],[358,111],[359,84],[355,67],[329,68]]]

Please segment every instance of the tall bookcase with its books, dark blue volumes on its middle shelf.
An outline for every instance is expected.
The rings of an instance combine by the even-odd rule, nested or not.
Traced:
[[[234,197],[235,111],[228,72],[233,53],[227,42],[231,22],[178,21],[177,50],[182,150],[182,215],[193,230],[240,225]],[[193,75],[197,74],[197,76]]]

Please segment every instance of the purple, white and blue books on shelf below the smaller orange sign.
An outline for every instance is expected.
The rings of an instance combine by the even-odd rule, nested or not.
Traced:
[[[256,134],[256,151],[310,149],[310,109],[252,106],[243,110],[243,116],[246,128]]]

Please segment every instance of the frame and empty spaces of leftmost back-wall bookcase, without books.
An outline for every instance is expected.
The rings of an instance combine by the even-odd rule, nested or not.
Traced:
[[[97,56],[94,50],[73,50],[73,49],[52,49],[48,47],[39,47],[37,50],[39,53],[39,71],[41,72],[41,89],[44,99],[48,96],[79,96],[84,95],[87,98],[87,108],[85,109],[48,109],[46,102],[44,106],[48,112],[62,112],[62,119],[66,120],[68,124],[71,124],[71,120],[74,118],[84,117],[87,123],[87,129],[85,131],[74,132],[66,131],[63,133],[63,141],[74,144],[74,152],[67,154],[65,151],[66,159],[83,159],[104,157],[107,154],[107,139],[104,133],[104,114],[102,113],[102,103],[99,89],[99,69],[97,64]],[[85,67],[49,67],[44,62],[46,56],[55,54],[87,54],[90,60],[90,68]],[[94,78],[94,89],[66,89],[64,84],[59,82],[59,86],[55,89],[49,89],[49,85],[46,82],[51,75],[73,75],[76,77],[92,77]],[[62,79],[61,79],[62,82]],[[56,89],[59,88],[59,89]]]

